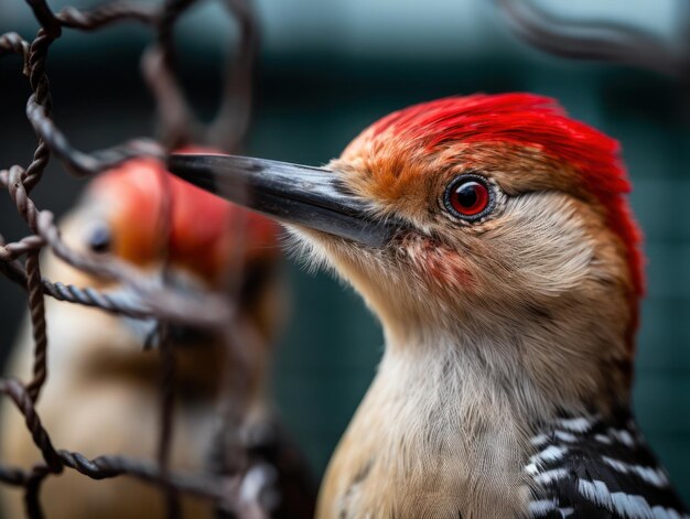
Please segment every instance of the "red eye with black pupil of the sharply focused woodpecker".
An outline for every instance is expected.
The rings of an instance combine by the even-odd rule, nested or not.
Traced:
[[[486,179],[464,174],[449,184],[443,202],[453,216],[475,221],[494,209],[494,191]]]

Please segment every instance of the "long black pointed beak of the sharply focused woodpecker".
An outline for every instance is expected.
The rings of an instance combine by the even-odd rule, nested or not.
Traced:
[[[235,155],[174,154],[175,175],[230,202],[369,247],[386,245],[399,227],[369,216],[330,170]]]

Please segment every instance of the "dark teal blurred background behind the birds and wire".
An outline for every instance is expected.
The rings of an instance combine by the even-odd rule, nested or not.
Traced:
[[[678,15],[681,1],[540,3],[564,15],[623,21],[661,39],[690,41],[687,19]],[[519,42],[486,0],[260,0],[258,11],[263,46],[251,154],[323,164],[390,110],[474,91],[553,96],[572,116],[622,142],[648,258],[635,408],[690,501],[688,86],[630,68],[546,56]],[[0,32],[8,30],[25,36],[35,30],[23,2],[0,0]],[[211,115],[223,48],[233,45],[235,28],[208,3],[177,36],[185,85],[200,111]],[[48,69],[55,117],[76,145],[90,150],[152,131],[152,100],[137,72],[148,39],[145,30],[130,26],[68,33],[55,45]],[[18,66],[15,60],[0,61],[2,165],[26,163],[32,152],[23,119],[29,91]],[[63,212],[79,188],[53,165],[36,198]],[[9,198],[1,203],[3,229],[18,221],[14,212]],[[14,231],[21,236],[24,229],[18,224]],[[293,310],[276,361],[274,394],[321,473],[375,372],[382,338],[351,289],[323,273],[305,273],[299,261],[290,260],[287,270]],[[8,281],[0,280],[0,324],[11,329],[25,302]],[[11,342],[12,334],[3,332],[0,358]]]

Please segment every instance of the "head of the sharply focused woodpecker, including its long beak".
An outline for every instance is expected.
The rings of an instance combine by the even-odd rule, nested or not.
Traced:
[[[617,143],[551,99],[412,106],[325,170],[244,158],[170,166],[288,223],[364,295],[389,349],[473,352],[561,400],[627,398],[643,291],[629,184]]]

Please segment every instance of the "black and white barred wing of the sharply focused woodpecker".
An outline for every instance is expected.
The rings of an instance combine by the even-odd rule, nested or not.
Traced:
[[[628,412],[562,418],[532,444],[532,518],[690,519]]]

